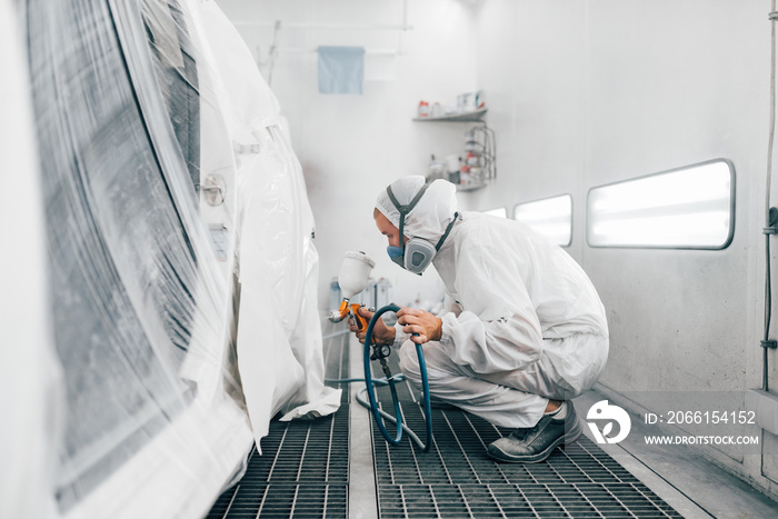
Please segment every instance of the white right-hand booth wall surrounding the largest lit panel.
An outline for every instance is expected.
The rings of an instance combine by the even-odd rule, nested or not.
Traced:
[[[479,88],[492,101],[500,177],[478,204],[510,210],[518,201],[572,194],[569,251],[608,310],[607,388],[739,391],[760,385],[769,10],[767,0],[480,6]],[[737,176],[728,249],[586,244],[589,188],[719,157],[734,161]],[[766,451],[776,445],[769,433],[764,441]],[[759,457],[706,455],[778,495]],[[765,460],[764,472],[778,480]]]

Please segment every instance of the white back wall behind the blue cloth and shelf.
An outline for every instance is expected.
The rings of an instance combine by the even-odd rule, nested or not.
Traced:
[[[401,0],[219,0],[238,24],[243,39],[267,57],[271,27],[250,21],[340,24],[402,23]],[[376,259],[373,277],[395,286],[393,300],[407,305],[417,295],[442,295],[436,272],[419,278],[399,269],[386,254],[386,238],[373,223],[379,191],[406,174],[423,174],[430,154],[462,152],[462,123],[412,122],[419,100],[456,103],[458,93],[476,88],[476,44],[472,8],[458,0],[411,0],[407,23],[412,30],[281,29],[281,51],[271,87],[289,119],[292,144],[302,162],[317,222],[320,263],[319,300],[327,306],[330,279],[337,276],[346,250],[363,250]],[[400,43],[401,41],[401,43]],[[318,46],[362,46],[366,82],[362,96],[318,93]],[[401,50],[398,57],[371,50]],[[267,70],[262,69],[267,78]],[[392,77],[375,80],[376,77]],[[432,298],[435,299],[435,298]]]

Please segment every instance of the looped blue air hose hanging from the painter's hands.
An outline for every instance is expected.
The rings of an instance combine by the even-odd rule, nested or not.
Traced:
[[[430,446],[432,445],[432,409],[429,401],[429,382],[427,380],[427,365],[425,363],[425,353],[421,349],[421,345],[416,345],[416,355],[419,358],[419,373],[421,375],[421,387],[425,402],[425,425],[427,426],[427,438],[425,443],[421,443],[419,438],[416,435],[413,435],[410,431],[410,429],[407,429],[407,427],[402,422],[402,411],[400,410],[400,401],[397,398],[397,390],[395,389],[395,381],[399,379],[399,376],[392,377],[391,371],[389,370],[389,365],[386,360],[389,353],[391,353],[391,349],[388,349],[387,351],[380,346],[371,345],[372,328],[378,321],[378,319],[381,317],[381,315],[388,311],[397,312],[399,310],[400,307],[398,307],[397,305],[387,305],[386,307],[382,307],[380,310],[378,310],[372,316],[372,319],[370,319],[370,323],[368,325],[368,329],[365,336],[365,388],[370,400],[369,403],[370,410],[372,411],[372,417],[376,419],[378,429],[381,431],[381,435],[383,435],[383,438],[386,438],[386,440],[393,446],[400,445],[400,440],[402,440],[402,430],[406,429],[411,439],[415,440],[415,443],[422,451],[427,452],[430,449]],[[372,379],[372,370],[370,369],[371,360],[379,360],[381,362],[383,373],[387,377],[386,382],[389,385],[389,389],[391,390],[391,398],[395,403],[395,417],[391,417],[391,415],[378,408],[378,403],[376,402],[376,391],[372,387],[375,380]],[[395,438],[392,438],[391,435],[389,435],[389,431],[387,430],[386,423],[383,421],[385,418],[389,419],[390,421],[393,421],[397,425],[397,433]]]

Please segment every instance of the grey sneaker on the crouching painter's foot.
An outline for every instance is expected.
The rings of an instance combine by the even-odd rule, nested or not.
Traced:
[[[492,441],[487,455],[510,463],[538,463],[551,456],[558,445],[576,441],[579,436],[581,426],[576,409],[568,402],[563,419],[545,415],[535,427],[516,429],[510,436]]]

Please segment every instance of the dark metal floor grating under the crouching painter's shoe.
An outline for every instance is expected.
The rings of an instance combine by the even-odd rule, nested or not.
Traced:
[[[397,367],[392,367],[392,372]],[[379,390],[391,407],[389,390]],[[402,413],[423,437],[419,392],[398,385]],[[390,411],[391,412],[391,411]],[[373,423],[381,518],[680,518],[586,437],[542,463],[496,463],[486,447],[510,431],[459,410],[432,410],[433,446],[390,447]]]

